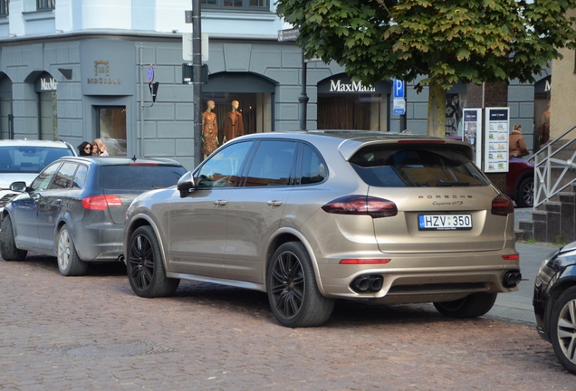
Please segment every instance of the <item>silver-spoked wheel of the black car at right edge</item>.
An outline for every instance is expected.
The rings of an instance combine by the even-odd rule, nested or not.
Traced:
[[[576,375],[576,287],[564,291],[552,307],[552,347],[568,372]]]

